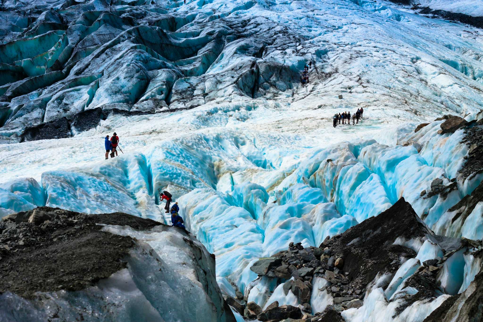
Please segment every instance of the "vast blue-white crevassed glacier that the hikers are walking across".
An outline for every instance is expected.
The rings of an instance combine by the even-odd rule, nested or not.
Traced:
[[[64,2],[35,1],[62,13],[68,12]],[[453,1],[430,2],[431,8],[432,2],[453,8]],[[472,3],[468,14],[483,15],[483,5]],[[83,5],[97,16],[82,15],[65,33],[50,31],[52,39],[39,31],[22,40],[49,48],[29,52],[30,45],[15,40],[24,36],[20,31],[0,46],[2,71],[8,63],[22,68],[27,80],[45,82],[26,85],[12,76],[0,86],[1,216],[50,206],[122,211],[170,224],[158,197],[168,190],[186,229],[216,256],[222,292],[234,297],[240,291],[262,308],[275,300],[301,303],[270,279],[256,280],[250,267],[260,257],[290,242],[319,246],[401,197],[436,234],[483,238],[483,201],[456,221],[450,211],[483,181],[481,173],[459,172],[470,153],[466,132],[439,134],[445,120],[434,121],[444,114],[482,119],[482,29],[372,0]],[[122,15],[101,15],[105,10],[147,14],[158,25],[128,28],[129,17],[114,24]],[[185,20],[168,28],[156,14]],[[11,16],[3,18],[14,25]],[[97,30],[89,39],[88,28]],[[178,47],[144,45],[139,34]],[[61,59],[63,69],[52,70]],[[299,75],[309,61],[310,84],[302,86]],[[360,107],[358,124],[332,126],[334,113]],[[69,137],[24,140],[29,126],[63,117],[70,122],[96,108],[156,113],[109,113],[87,130],[70,126]],[[429,124],[414,132],[421,123]],[[104,137],[114,131],[124,154],[104,160]],[[437,189],[442,192],[432,193]],[[422,322],[480,271],[480,258],[461,254],[441,274],[446,294],[395,314],[404,295],[414,294],[404,280],[442,254],[429,240],[404,242],[417,257],[399,268],[388,288],[368,292],[361,308],[343,311],[346,321]],[[150,244],[162,248],[156,240]],[[313,313],[333,303],[326,284],[313,280]]]

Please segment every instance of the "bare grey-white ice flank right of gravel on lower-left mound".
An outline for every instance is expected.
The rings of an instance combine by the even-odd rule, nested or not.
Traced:
[[[103,228],[139,241],[142,251],[129,252],[129,273],[164,320],[190,321],[193,316],[206,322],[230,320],[231,311],[227,315],[210,254],[199,241],[173,229],[176,228],[156,226],[148,231],[112,225]],[[199,305],[187,308],[186,303]],[[173,310],[173,305],[184,309]]]

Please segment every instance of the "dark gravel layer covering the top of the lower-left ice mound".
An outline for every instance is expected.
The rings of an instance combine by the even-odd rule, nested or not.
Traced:
[[[102,232],[99,224],[139,230],[160,225],[120,212],[85,215],[50,207],[21,212],[16,218],[16,224],[12,217],[0,224],[0,244],[9,245],[9,251],[0,250],[0,293],[24,298],[35,292],[82,290],[126,267],[123,258],[133,246],[132,238]]]

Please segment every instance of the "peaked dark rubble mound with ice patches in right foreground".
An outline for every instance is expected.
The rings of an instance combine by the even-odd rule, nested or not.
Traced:
[[[288,250],[259,259],[250,268],[258,279],[248,296],[227,297],[227,303],[248,320],[344,322],[353,321],[355,310],[370,307],[374,294],[383,292],[377,301],[395,308],[396,321],[407,321],[404,311],[412,307],[420,315],[427,312],[424,322],[482,321],[482,259],[480,240],[435,235],[401,198],[319,247],[292,242]],[[275,287],[262,309],[247,300],[263,296],[250,295],[263,283]],[[293,305],[273,301],[291,298],[290,293],[296,297]]]

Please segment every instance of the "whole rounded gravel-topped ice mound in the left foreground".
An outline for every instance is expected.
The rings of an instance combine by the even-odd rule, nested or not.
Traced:
[[[214,256],[150,219],[19,212],[0,223],[0,256],[0,321],[235,321]]]

